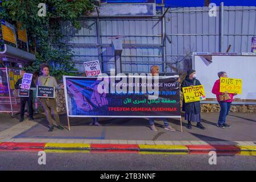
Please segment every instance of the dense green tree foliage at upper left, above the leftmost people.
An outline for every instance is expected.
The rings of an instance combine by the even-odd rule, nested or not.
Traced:
[[[38,16],[39,3],[47,5],[45,17]],[[63,42],[60,21],[68,20],[80,29],[79,16],[92,10],[89,0],[3,0],[0,18],[13,24],[19,21],[27,28],[29,50],[35,53],[36,61],[26,65],[26,70],[40,71],[40,64],[47,63],[51,75],[61,80],[62,75],[73,75],[76,70],[71,62],[73,52]]]

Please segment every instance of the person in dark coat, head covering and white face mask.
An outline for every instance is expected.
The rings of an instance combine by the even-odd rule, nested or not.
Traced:
[[[196,85],[201,85],[200,81],[196,79],[196,71],[193,69],[189,69],[187,71],[187,76],[185,77],[185,80],[183,80],[183,82],[181,83],[180,90],[181,92],[183,92],[183,87],[193,87]],[[192,129],[191,122],[197,122],[196,127],[202,130],[205,129],[205,127],[201,124],[200,101],[185,103],[183,98],[182,110],[185,111],[185,120],[188,121],[188,129]]]

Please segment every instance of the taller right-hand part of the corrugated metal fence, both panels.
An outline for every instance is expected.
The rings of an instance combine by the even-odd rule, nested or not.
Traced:
[[[220,14],[208,15],[208,7],[184,7],[170,9],[166,15],[167,62],[173,66],[189,52],[219,52]],[[224,47],[232,45],[229,52],[250,52],[251,37],[256,36],[256,7],[224,6]],[[190,58],[187,58],[190,59]],[[189,61],[181,61],[180,69],[186,69]],[[167,64],[168,65],[168,64]],[[170,72],[171,69],[167,69]],[[175,69],[174,69],[175,71]]]

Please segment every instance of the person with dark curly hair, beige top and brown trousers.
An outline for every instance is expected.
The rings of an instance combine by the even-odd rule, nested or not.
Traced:
[[[49,67],[46,64],[41,65],[41,71],[43,76],[38,77],[38,82],[36,85],[38,86],[53,86],[55,89],[64,89],[64,85],[57,85],[56,79],[53,76],[49,76]],[[57,129],[64,130],[64,127],[60,125],[59,114],[57,113],[57,102],[56,98],[39,98],[44,111],[46,112],[46,117],[49,122],[49,132],[53,131],[55,125],[53,125],[54,120],[52,119],[51,113],[55,119],[57,124]]]

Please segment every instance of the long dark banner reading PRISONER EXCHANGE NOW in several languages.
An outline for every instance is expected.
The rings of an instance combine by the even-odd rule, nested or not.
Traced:
[[[64,76],[63,81],[68,117],[181,118],[175,76]]]

